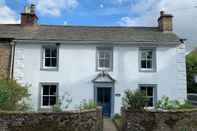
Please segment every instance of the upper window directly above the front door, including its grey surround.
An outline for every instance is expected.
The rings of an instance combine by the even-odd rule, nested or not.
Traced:
[[[97,70],[112,71],[113,69],[113,48],[97,48]]]

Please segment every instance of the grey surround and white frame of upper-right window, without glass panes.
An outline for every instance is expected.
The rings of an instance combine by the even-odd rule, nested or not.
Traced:
[[[152,58],[145,58],[145,61],[151,61],[151,68],[142,68],[142,52],[152,51]],[[140,72],[156,72],[156,48],[155,47],[140,47],[139,48],[139,71]]]

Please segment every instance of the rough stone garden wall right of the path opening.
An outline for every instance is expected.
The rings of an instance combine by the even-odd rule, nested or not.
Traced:
[[[122,131],[197,131],[197,110],[129,111],[122,109]]]

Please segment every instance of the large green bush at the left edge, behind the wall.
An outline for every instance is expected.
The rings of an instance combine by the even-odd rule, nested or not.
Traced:
[[[0,80],[0,110],[28,110],[29,96],[26,86],[21,86],[15,80]]]

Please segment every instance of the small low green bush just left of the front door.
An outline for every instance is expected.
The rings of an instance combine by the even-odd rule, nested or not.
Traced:
[[[83,100],[80,104],[80,109],[85,110],[85,109],[95,109],[97,107],[97,104],[93,100]]]

